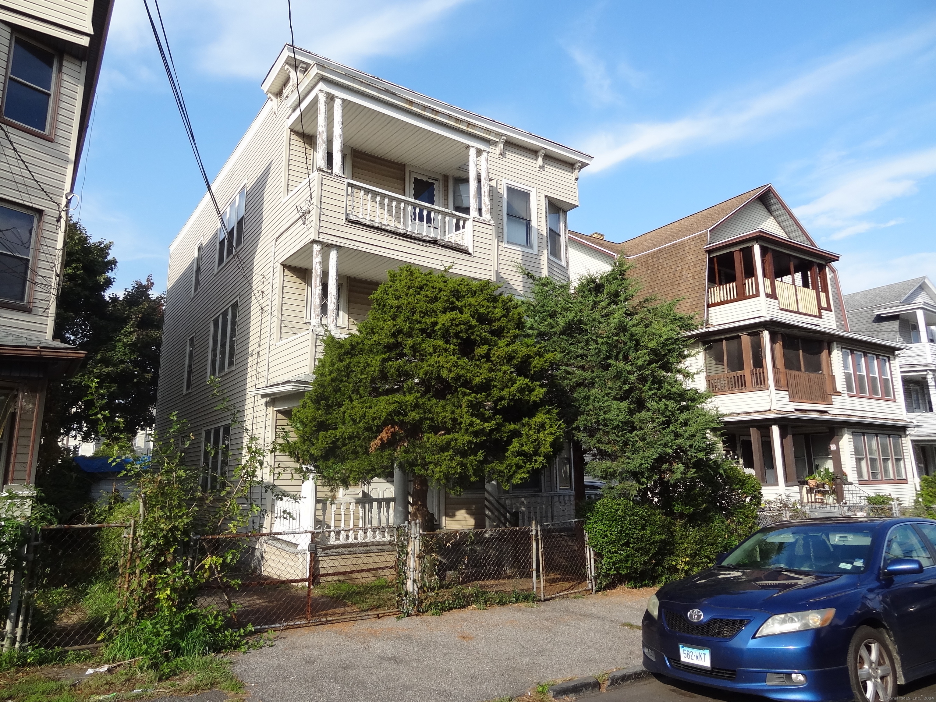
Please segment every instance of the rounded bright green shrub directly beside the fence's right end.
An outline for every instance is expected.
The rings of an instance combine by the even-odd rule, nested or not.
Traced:
[[[596,570],[598,587],[620,582],[638,587],[654,584],[668,526],[668,519],[657,509],[621,497],[603,497],[590,505],[585,530],[589,544],[601,557]]]

